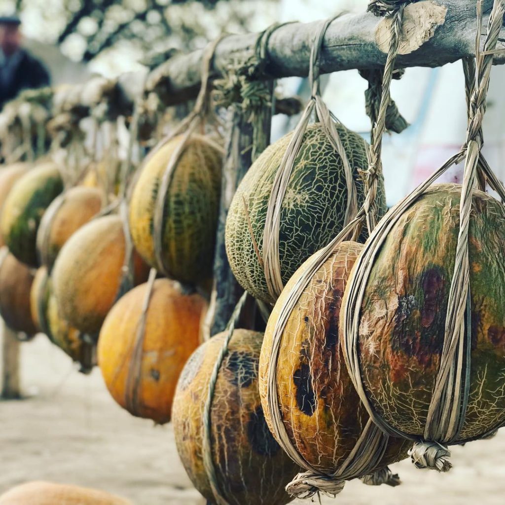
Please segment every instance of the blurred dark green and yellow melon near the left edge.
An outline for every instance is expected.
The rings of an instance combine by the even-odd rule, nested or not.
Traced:
[[[42,163],[20,177],[12,187],[2,209],[0,229],[12,254],[36,267],[35,241],[45,209],[63,191],[56,164]]]

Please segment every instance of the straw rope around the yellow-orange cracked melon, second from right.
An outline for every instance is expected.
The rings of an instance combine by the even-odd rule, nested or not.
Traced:
[[[365,426],[355,447],[349,453],[347,459],[340,468],[331,475],[321,474],[320,471],[315,469],[299,454],[286,431],[279,409],[277,392],[277,360],[282,333],[288,318],[300,295],[304,292],[321,265],[323,265],[334,253],[335,248],[342,240],[346,239],[350,234],[357,236],[359,234],[359,229],[365,222],[370,232],[375,224],[375,218],[371,216],[371,214],[374,210],[373,204],[377,194],[377,180],[382,171],[382,166],[380,164],[381,150],[380,145],[377,145],[377,143],[381,143],[382,134],[385,128],[385,117],[390,100],[389,86],[392,79],[394,60],[396,58],[398,41],[401,33],[401,22],[404,7],[405,6],[400,6],[399,10],[394,14],[391,26],[390,47],[384,69],[383,91],[377,123],[375,124],[372,133],[373,147],[369,153],[369,169],[365,174],[366,198],[364,204],[357,212],[354,219],[349,220],[342,231],[326,247],[320,249],[311,257],[310,260],[308,260],[306,270],[292,287],[290,295],[281,309],[273,331],[272,354],[270,355],[267,377],[268,411],[275,438],[279,441],[281,447],[287,452],[291,459],[300,467],[307,470],[305,473],[299,474],[286,487],[286,490],[290,494],[299,498],[311,497],[320,492],[330,496],[335,496],[343,489],[345,480],[356,477],[363,477],[363,481],[367,484],[377,485],[387,483],[394,486],[399,483],[397,476],[393,475],[389,469],[379,468],[376,471],[384,456],[389,436],[381,430],[372,421],[372,419],[368,420],[367,425]]]

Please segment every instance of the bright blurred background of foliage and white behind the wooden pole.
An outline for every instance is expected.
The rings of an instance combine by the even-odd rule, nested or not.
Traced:
[[[334,16],[341,10],[363,12],[368,0],[2,0],[0,14],[17,10],[27,47],[51,68],[53,81],[82,82],[92,73],[107,77],[142,69],[171,48],[203,47],[222,31],[259,31],[276,21]],[[160,58],[158,56],[158,58]],[[163,61],[163,56],[161,60]],[[505,169],[505,69],[495,67],[485,119],[485,151],[503,180]],[[298,78],[283,79],[284,94],[303,89]],[[324,98],[349,128],[369,136],[365,114],[366,81],[357,71],[324,80]],[[407,69],[393,81],[392,96],[411,126],[387,135],[383,162],[388,204],[426,178],[465,139],[466,104],[461,63],[439,69]],[[275,118],[273,139],[296,118]],[[458,181],[461,167],[446,174]]]

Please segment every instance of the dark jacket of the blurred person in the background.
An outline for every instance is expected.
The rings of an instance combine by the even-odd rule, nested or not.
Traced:
[[[5,86],[0,79],[0,109],[23,89],[40,88],[48,86],[51,82],[45,66],[25,49],[21,49],[21,51],[21,60],[14,69],[14,75],[8,86]]]

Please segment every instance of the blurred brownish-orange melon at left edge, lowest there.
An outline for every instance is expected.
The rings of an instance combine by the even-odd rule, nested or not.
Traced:
[[[18,261],[9,249],[0,249],[0,316],[14,331],[27,335],[36,333],[37,328],[31,317],[30,290],[33,273]]]

